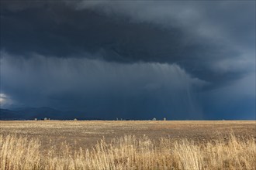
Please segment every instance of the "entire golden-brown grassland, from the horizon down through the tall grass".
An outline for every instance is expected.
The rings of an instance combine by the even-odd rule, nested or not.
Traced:
[[[0,121],[0,169],[256,169],[256,121]]]

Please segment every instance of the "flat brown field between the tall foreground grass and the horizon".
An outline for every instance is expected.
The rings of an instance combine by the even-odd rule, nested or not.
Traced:
[[[39,138],[43,147],[67,141],[74,149],[91,148],[102,138],[111,141],[124,135],[203,142],[230,133],[256,138],[256,121],[0,121],[4,136]]]

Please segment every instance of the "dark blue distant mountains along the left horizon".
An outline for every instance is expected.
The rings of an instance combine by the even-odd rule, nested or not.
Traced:
[[[50,107],[24,107],[13,110],[0,108],[0,120],[100,120],[96,117],[86,117],[88,114],[78,111],[61,111]]]

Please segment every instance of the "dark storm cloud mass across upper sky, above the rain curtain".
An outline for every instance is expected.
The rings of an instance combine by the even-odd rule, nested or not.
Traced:
[[[93,56],[123,63],[178,63],[203,80],[224,83],[248,71],[244,66],[220,76],[215,65],[243,53],[230,42],[255,44],[251,3],[5,2],[1,46],[26,56],[97,53]]]

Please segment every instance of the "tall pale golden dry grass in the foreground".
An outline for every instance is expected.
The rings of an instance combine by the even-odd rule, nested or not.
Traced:
[[[0,135],[0,169],[255,169],[254,138],[230,134],[215,141],[126,135],[92,149],[71,145],[41,148],[38,138]]]

